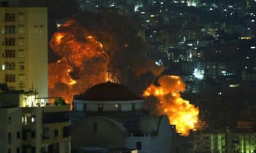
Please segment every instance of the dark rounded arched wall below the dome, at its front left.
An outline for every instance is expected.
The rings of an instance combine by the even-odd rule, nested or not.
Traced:
[[[93,125],[97,131],[93,132]],[[81,147],[124,147],[126,131],[122,125],[108,117],[84,119],[72,129],[72,149]]]

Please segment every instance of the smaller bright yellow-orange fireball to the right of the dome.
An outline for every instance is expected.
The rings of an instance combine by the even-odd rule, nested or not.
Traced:
[[[180,98],[180,92],[184,92],[185,83],[180,77],[164,75],[158,80],[159,86],[151,84],[143,93],[144,97],[154,96],[156,103],[150,103],[153,113],[166,114],[170,124],[176,125],[178,133],[189,135],[190,129],[195,129],[198,122],[198,108]],[[153,106],[154,105],[154,106]]]

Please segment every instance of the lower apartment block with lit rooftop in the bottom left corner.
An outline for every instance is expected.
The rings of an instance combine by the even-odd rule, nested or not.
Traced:
[[[0,93],[0,152],[70,153],[69,105],[36,92]]]

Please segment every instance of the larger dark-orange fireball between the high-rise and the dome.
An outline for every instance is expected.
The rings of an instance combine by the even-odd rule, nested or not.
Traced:
[[[92,34],[69,20],[52,36],[51,48],[61,59],[49,64],[50,96],[72,103],[75,94],[114,77],[109,75],[109,57]],[[90,79],[89,79],[90,78]]]

